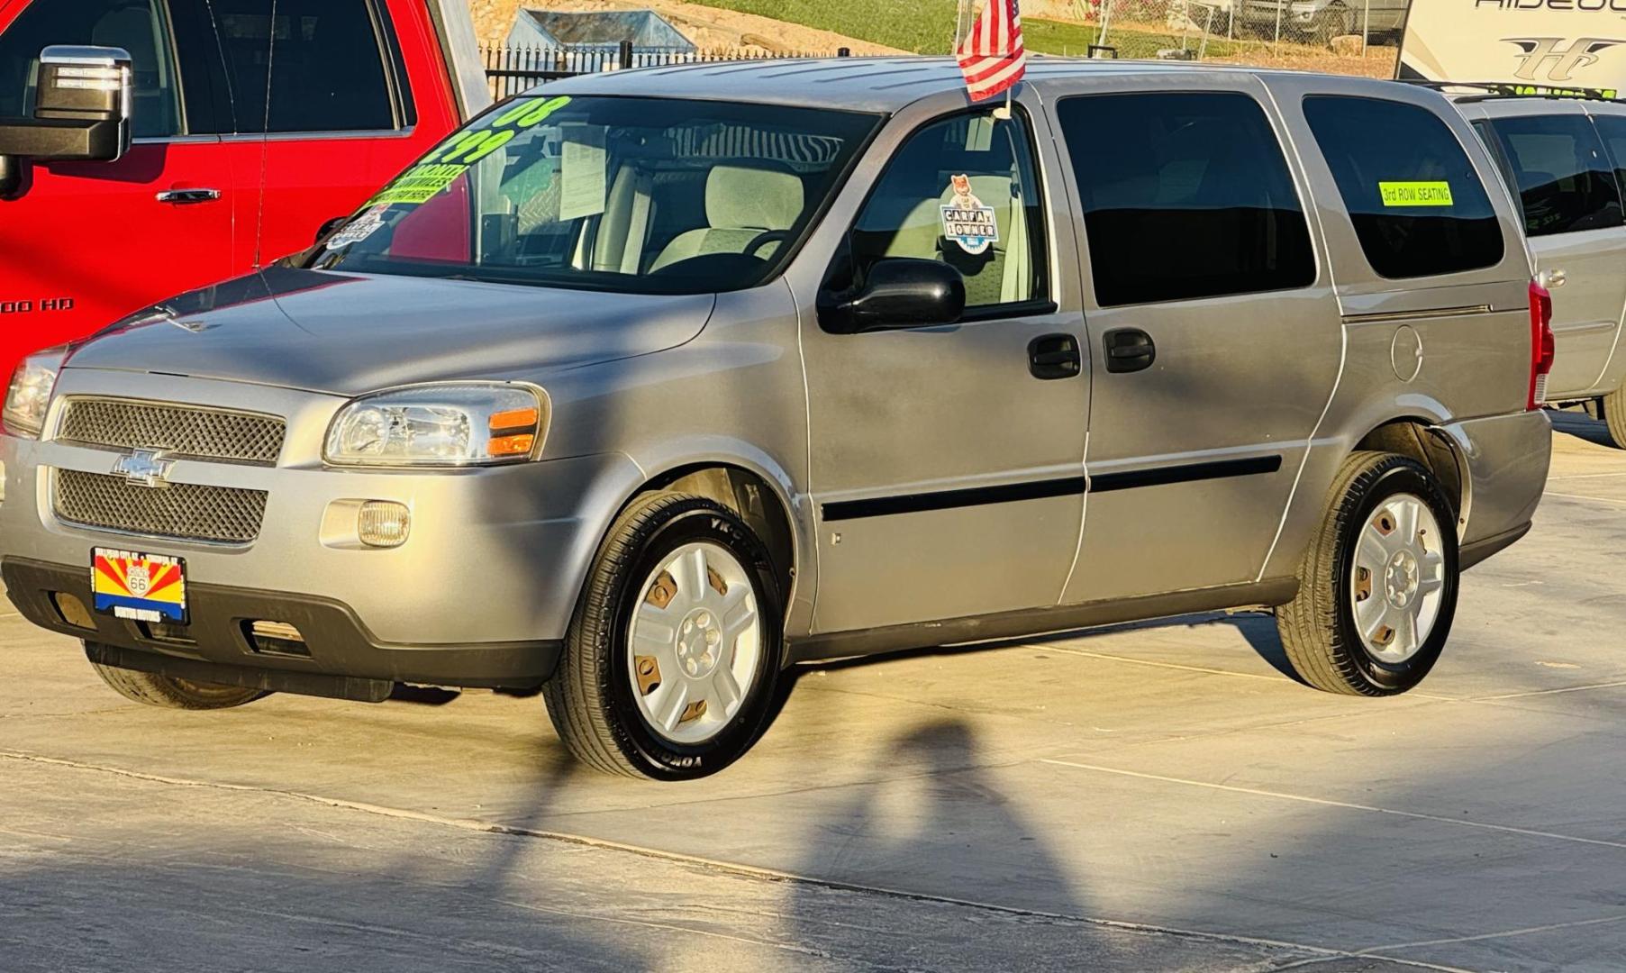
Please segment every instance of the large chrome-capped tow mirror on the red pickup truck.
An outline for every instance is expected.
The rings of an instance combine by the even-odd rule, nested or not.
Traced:
[[[23,161],[112,163],[130,148],[130,52],[46,47],[33,119],[0,119],[0,197],[23,184]]]

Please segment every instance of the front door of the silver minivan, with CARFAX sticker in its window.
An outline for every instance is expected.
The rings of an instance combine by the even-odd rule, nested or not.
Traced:
[[[1089,376],[1078,308],[1057,309],[1037,171],[1023,107],[925,122],[828,286],[888,257],[941,260],[964,275],[966,317],[846,335],[805,303],[816,633],[1057,602],[1083,514]],[[1070,233],[1057,246],[1072,259]]]

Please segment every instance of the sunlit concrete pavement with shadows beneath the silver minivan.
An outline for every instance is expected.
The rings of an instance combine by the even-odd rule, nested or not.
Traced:
[[[0,615],[0,971],[1626,968],[1626,454],[1561,426],[1395,700],[1182,618],[808,669],[655,786],[535,698],[167,713]]]

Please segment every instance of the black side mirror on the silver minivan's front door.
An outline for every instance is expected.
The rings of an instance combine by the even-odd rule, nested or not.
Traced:
[[[966,312],[966,278],[948,264],[914,257],[876,260],[862,285],[824,291],[820,325],[833,334],[954,324]]]

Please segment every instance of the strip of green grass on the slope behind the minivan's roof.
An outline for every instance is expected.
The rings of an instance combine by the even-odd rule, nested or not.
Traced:
[[[948,54],[954,33],[954,0],[917,0],[906,5],[878,5],[873,0],[699,0],[706,7],[771,16],[795,24],[836,31],[860,41],[886,44],[915,54]],[[1083,55],[1099,31],[1089,24],[1054,20],[1023,20],[1023,42],[1039,54]],[[1177,34],[1114,28],[1112,47],[1119,57],[1156,57],[1158,50],[1179,47]],[[1197,37],[1190,41],[1197,46]],[[1236,44],[1208,42],[1211,57],[1234,54]]]

